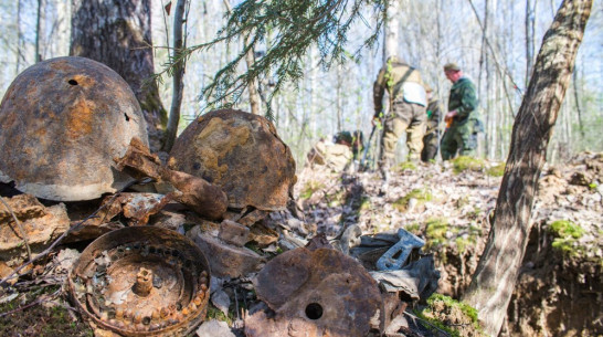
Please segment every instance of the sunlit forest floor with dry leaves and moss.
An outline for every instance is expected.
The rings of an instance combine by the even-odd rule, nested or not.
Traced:
[[[383,188],[374,172],[307,166],[295,186],[296,210],[275,212],[268,222],[302,243],[316,233],[336,238],[350,225],[358,225],[363,234],[404,228],[425,239],[425,253],[434,253],[441,271],[436,293],[458,298],[486,242],[503,172],[504,164],[472,158],[403,162]],[[602,183],[603,154],[581,154],[568,164],[544,168],[532,211],[533,230],[503,336],[603,334]],[[49,256],[47,265],[54,257]],[[41,264],[32,274],[65,273],[44,268]],[[61,284],[42,278],[39,286],[32,277],[21,284],[24,291],[17,296],[0,299],[0,335],[92,336],[66,296],[52,296],[65,294]],[[232,308],[221,315],[211,306],[210,316],[230,325],[234,320]],[[446,322],[444,316],[435,318]],[[462,326],[456,329],[459,336],[475,336]]]

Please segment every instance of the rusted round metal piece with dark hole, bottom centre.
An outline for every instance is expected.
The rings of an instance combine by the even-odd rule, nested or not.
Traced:
[[[358,262],[332,249],[285,252],[266,264],[254,285],[275,315],[252,315],[245,322],[250,337],[366,336],[380,326],[377,283]]]

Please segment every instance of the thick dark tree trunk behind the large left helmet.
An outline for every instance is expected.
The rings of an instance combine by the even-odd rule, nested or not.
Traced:
[[[152,61],[150,1],[72,0],[70,54],[102,62],[130,85],[147,120],[152,150],[161,147],[168,115]]]

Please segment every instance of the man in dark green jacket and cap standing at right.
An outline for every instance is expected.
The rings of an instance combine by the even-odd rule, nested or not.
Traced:
[[[453,86],[448,97],[448,113],[445,117],[449,127],[444,133],[441,144],[442,159],[452,159],[457,151],[461,156],[473,156],[477,148],[475,127],[479,124],[475,85],[454,63],[444,65],[444,74]]]

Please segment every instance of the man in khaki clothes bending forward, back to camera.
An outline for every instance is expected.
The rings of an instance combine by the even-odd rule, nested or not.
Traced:
[[[385,89],[390,97],[390,112],[384,116],[382,109]],[[378,120],[383,123],[383,147],[379,158],[379,170],[382,178],[388,180],[395,157],[395,146],[404,130],[408,134],[408,159],[419,161],[421,156],[427,122],[425,114],[427,98],[421,73],[398,56],[390,56],[374,82],[373,102],[373,123]]]

